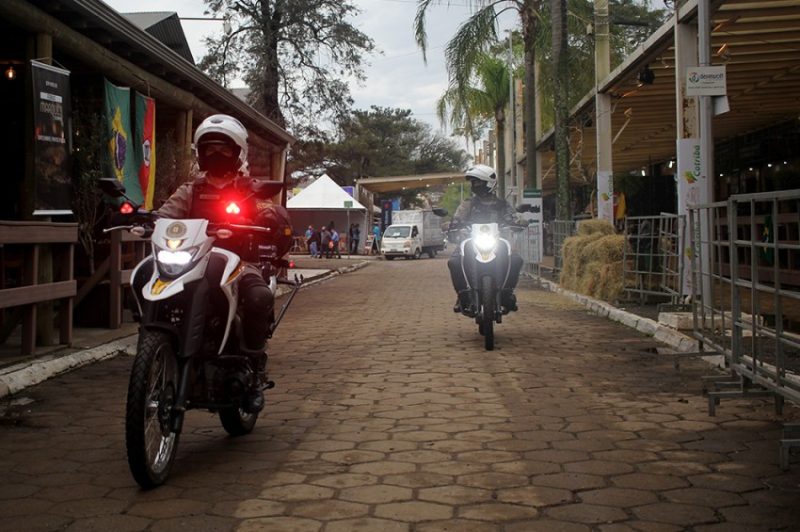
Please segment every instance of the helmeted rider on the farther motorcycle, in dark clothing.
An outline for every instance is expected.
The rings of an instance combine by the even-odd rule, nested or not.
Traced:
[[[504,200],[498,198],[494,191],[497,188],[497,174],[494,168],[485,164],[471,166],[465,172],[465,179],[469,181],[472,197],[464,200],[453,215],[451,226],[468,226],[473,223],[499,223],[517,225],[514,209]],[[514,287],[519,280],[522,269],[522,257],[511,252],[509,257],[509,272],[505,285],[500,290],[500,305],[505,311],[517,310],[517,298]],[[468,287],[464,269],[467,263],[462,264],[461,246],[447,261],[450,269],[450,278],[456,291],[457,299],[453,312],[461,312],[468,316],[475,316],[477,309],[472,301],[472,291]]]

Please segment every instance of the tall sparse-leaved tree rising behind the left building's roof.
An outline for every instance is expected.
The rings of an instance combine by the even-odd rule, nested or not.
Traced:
[[[374,50],[347,22],[350,0],[204,0],[207,14],[230,30],[206,39],[198,65],[227,86],[241,77],[250,103],[296,136],[318,135],[350,111],[347,78],[363,81],[363,58]]]

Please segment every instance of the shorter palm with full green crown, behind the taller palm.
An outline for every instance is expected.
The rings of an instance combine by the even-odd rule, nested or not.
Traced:
[[[449,114],[450,126],[465,136],[476,131],[476,118],[494,120],[497,138],[496,170],[501,198],[505,198],[505,123],[508,103],[508,66],[495,56],[482,54],[475,59],[474,76],[466,86],[451,84],[437,104],[437,114],[442,124],[447,122]]]

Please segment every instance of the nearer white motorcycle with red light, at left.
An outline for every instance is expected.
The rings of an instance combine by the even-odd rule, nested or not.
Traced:
[[[116,180],[101,182],[106,194],[124,194]],[[272,197],[274,187],[266,182],[251,196]],[[241,198],[240,204],[247,199]],[[236,203],[229,203],[227,212],[238,212],[234,207]],[[230,435],[248,434],[259,414],[245,411],[245,394],[254,387],[263,391],[274,386],[266,376],[264,360],[261,368],[253,367],[255,362],[245,356],[240,344],[238,282],[243,259],[260,265],[273,295],[279,282],[294,286],[270,336],[302,279],[278,278],[288,262],[278,256],[275,242],[279,235],[269,228],[211,224],[203,219],[157,219],[126,204],[121,212],[126,215],[116,218],[122,225],[106,231],[128,230],[149,236],[152,243],[152,255],[131,275],[131,279],[144,279],[144,285],[134,288],[139,342],[125,413],[131,473],[143,488],[152,488],[167,479],[187,410],[216,412]],[[231,247],[242,251],[237,254],[214,245],[225,239],[235,239],[231,242],[236,246]]]

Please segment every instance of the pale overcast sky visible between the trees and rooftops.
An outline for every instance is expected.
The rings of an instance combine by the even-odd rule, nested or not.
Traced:
[[[202,0],[104,0],[117,11],[175,11],[179,17],[203,17]],[[414,42],[413,23],[416,0],[352,0],[361,10],[353,21],[370,36],[380,53],[367,58],[366,82],[351,85],[357,109],[371,105],[411,109],[419,120],[435,129],[436,100],[447,88],[444,68],[444,45],[469,14],[467,0],[454,0],[450,7],[433,6],[428,17],[428,64],[422,60]],[[515,14],[504,15],[503,28],[515,23]],[[186,39],[195,60],[205,53],[202,39],[222,32],[222,22],[182,21]]]

